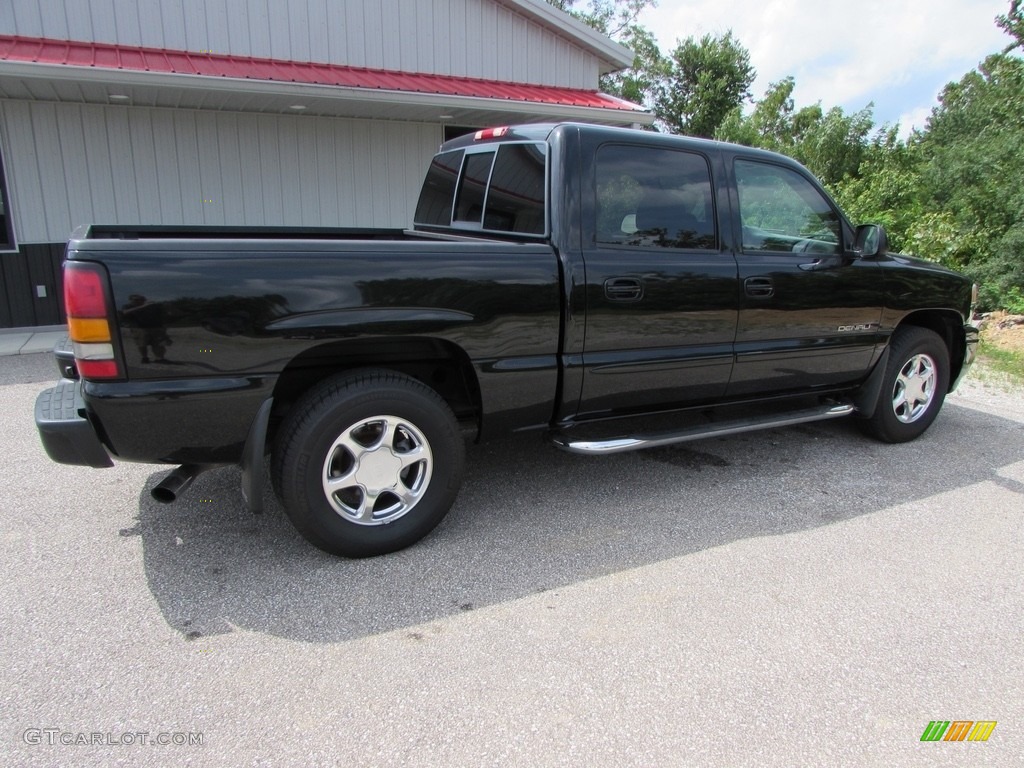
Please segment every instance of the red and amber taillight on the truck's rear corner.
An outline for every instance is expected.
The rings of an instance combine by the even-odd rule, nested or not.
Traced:
[[[65,262],[68,335],[75,350],[75,365],[85,379],[121,378],[121,366],[114,353],[105,280],[96,264]]]

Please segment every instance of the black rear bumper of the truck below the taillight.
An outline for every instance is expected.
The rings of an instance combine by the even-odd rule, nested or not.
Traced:
[[[82,382],[61,381],[36,398],[36,429],[47,456],[58,464],[113,467],[110,454],[86,417]]]

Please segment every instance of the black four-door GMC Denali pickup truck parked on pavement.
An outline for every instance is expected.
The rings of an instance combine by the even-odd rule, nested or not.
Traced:
[[[296,527],[353,557],[437,525],[467,441],[600,455],[848,415],[910,440],[978,342],[970,282],[792,160],[578,124],[443,144],[411,230],[92,226],[63,278],[54,461],[182,465],[165,502],[240,465],[258,511],[269,454]]]

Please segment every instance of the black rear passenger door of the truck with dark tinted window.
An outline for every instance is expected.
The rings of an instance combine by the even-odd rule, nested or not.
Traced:
[[[723,247],[711,145],[621,140],[595,158],[584,209],[581,417],[722,396],[732,371],[736,264]]]

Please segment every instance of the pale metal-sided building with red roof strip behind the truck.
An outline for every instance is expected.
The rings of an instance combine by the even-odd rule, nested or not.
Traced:
[[[632,54],[543,0],[0,8],[0,328],[62,322],[86,223],[404,226],[469,128],[649,125]]]

